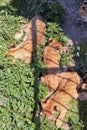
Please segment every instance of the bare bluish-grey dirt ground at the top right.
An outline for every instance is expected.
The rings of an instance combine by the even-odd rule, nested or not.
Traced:
[[[78,9],[82,0],[57,0],[64,8],[66,22],[64,24],[65,35],[68,36],[74,45],[87,42],[87,23],[83,23],[79,17]]]

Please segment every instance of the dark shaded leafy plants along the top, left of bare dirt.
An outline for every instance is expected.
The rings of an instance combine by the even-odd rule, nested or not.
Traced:
[[[27,16],[28,18],[35,14],[41,14],[46,21],[57,22],[61,25],[65,20],[65,11],[59,3],[51,3],[47,0],[12,0],[11,5],[17,9],[16,14]]]

